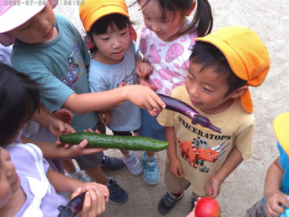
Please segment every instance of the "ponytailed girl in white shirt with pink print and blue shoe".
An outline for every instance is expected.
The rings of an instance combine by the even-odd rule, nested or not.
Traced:
[[[188,74],[188,63],[195,37],[210,33],[213,18],[207,0],[198,1],[161,1],[138,0],[144,15],[145,27],[140,37],[140,51],[144,60],[152,67],[148,80],[140,83],[148,85],[157,93],[170,95],[172,89],[184,84]],[[196,9],[193,20],[188,16]],[[142,110],[142,127],[140,136],[153,137],[165,141],[165,129],[156,118]],[[147,184],[158,184],[160,175],[154,152],[143,153],[142,165],[144,181]]]

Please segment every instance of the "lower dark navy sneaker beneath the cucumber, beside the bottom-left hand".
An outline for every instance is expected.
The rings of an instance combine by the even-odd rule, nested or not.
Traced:
[[[128,194],[121,186],[119,186],[119,184],[117,184],[115,180],[109,178],[109,181],[107,182],[107,188],[109,191],[109,202],[115,204],[126,203]]]

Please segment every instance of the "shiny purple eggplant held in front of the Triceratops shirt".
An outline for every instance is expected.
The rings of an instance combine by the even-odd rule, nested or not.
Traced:
[[[164,104],[166,105],[165,109],[179,112],[182,115],[191,118],[191,123],[194,125],[200,124],[200,126],[202,127],[208,127],[213,131],[221,133],[221,130],[218,127],[210,123],[209,118],[201,116],[200,113],[195,109],[193,109],[190,105],[184,103],[179,99],[174,99],[172,97],[165,96],[160,93],[158,93],[157,95],[163,100]]]

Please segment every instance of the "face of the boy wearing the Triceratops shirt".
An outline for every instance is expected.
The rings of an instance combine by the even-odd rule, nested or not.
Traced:
[[[192,105],[207,114],[218,114],[232,103],[228,91],[226,74],[219,74],[213,68],[202,68],[200,64],[190,64],[185,82]]]

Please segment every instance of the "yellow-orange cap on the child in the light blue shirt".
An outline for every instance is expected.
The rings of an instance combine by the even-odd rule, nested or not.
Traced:
[[[99,18],[108,14],[123,14],[129,18],[125,0],[84,0],[79,5],[79,16],[85,31]]]

